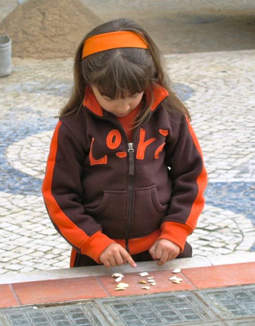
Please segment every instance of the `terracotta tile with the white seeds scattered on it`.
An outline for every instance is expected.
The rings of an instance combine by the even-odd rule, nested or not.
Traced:
[[[178,276],[183,279],[181,284],[174,284],[169,280],[172,276]],[[183,290],[194,290],[195,287],[189,282],[189,280],[182,274],[173,274],[171,270],[152,271],[149,276],[153,276],[156,281],[156,285],[139,284],[141,280],[147,281],[147,277],[141,277],[138,273],[125,274],[121,282],[129,284],[123,291],[115,291],[117,283],[115,279],[109,276],[98,277],[101,284],[107,289],[112,296],[125,296],[125,295],[139,295],[139,294],[151,294],[160,292],[170,291],[183,291]],[[142,286],[150,286],[149,290],[141,289]]]

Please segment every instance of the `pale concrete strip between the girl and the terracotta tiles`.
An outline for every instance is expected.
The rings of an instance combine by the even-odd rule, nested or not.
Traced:
[[[46,281],[58,279],[80,278],[87,276],[111,275],[113,273],[139,273],[140,271],[168,270],[174,268],[196,268],[212,265],[226,265],[245,262],[255,262],[255,252],[235,252],[230,255],[212,255],[208,257],[194,256],[192,258],[175,259],[158,266],[155,261],[138,262],[136,268],[122,265],[106,268],[103,265],[75,267],[64,269],[38,270],[30,273],[9,273],[0,277],[0,284],[14,284],[22,282]]]

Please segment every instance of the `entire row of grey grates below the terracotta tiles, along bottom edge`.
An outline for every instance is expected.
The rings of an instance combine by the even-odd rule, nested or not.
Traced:
[[[0,326],[14,325],[254,326],[255,285],[0,310]]]

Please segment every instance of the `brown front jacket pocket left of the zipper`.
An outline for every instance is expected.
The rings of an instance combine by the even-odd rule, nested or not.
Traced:
[[[126,191],[104,191],[101,203],[86,212],[99,223],[110,238],[124,238],[126,223]]]

